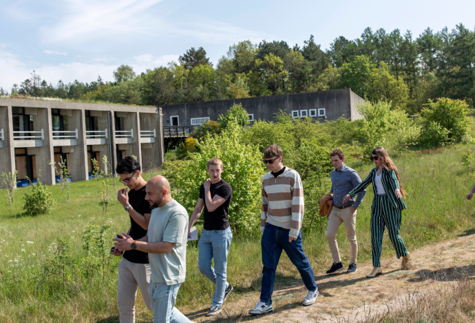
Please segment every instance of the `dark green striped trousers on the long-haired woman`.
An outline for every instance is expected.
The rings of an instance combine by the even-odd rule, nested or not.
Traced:
[[[387,195],[377,195],[371,207],[371,256],[373,267],[381,267],[384,227],[388,227],[390,241],[396,250],[397,258],[408,255],[403,238],[399,235],[402,213],[391,204]]]

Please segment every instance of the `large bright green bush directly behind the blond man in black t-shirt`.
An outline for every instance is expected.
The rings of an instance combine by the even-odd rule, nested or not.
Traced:
[[[232,118],[221,135],[204,137],[198,153],[188,161],[165,163],[165,177],[171,181],[174,198],[191,214],[200,194],[200,186],[209,177],[207,162],[218,157],[223,162],[222,179],[233,188],[229,223],[233,232],[257,232],[260,219],[261,179],[264,175],[262,154],[256,146],[240,141],[240,126]]]

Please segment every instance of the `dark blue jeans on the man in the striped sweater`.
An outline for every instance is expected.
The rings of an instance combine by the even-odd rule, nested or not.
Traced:
[[[313,276],[313,269],[308,262],[307,256],[302,248],[302,230],[299,232],[297,240],[288,242],[288,232],[291,230],[283,227],[276,227],[266,223],[264,234],[262,234],[262,288],[261,302],[272,304],[272,293],[274,291],[275,271],[279,264],[282,249],[297,269],[304,280],[304,285],[308,291],[317,291],[317,283]]]

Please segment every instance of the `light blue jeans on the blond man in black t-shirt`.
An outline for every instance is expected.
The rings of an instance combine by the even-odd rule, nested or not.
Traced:
[[[229,285],[226,282],[226,267],[232,240],[231,227],[228,227],[225,230],[203,230],[198,241],[198,268],[216,285],[211,306],[222,306],[224,291]],[[211,267],[213,258],[214,268]]]

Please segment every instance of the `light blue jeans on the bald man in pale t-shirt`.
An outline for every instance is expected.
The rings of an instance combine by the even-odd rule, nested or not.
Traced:
[[[154,323],[190,323],[180,311],[173,311],[176,294],[181,284],[166,285],[150,280],[150,300],[154,307]]]

